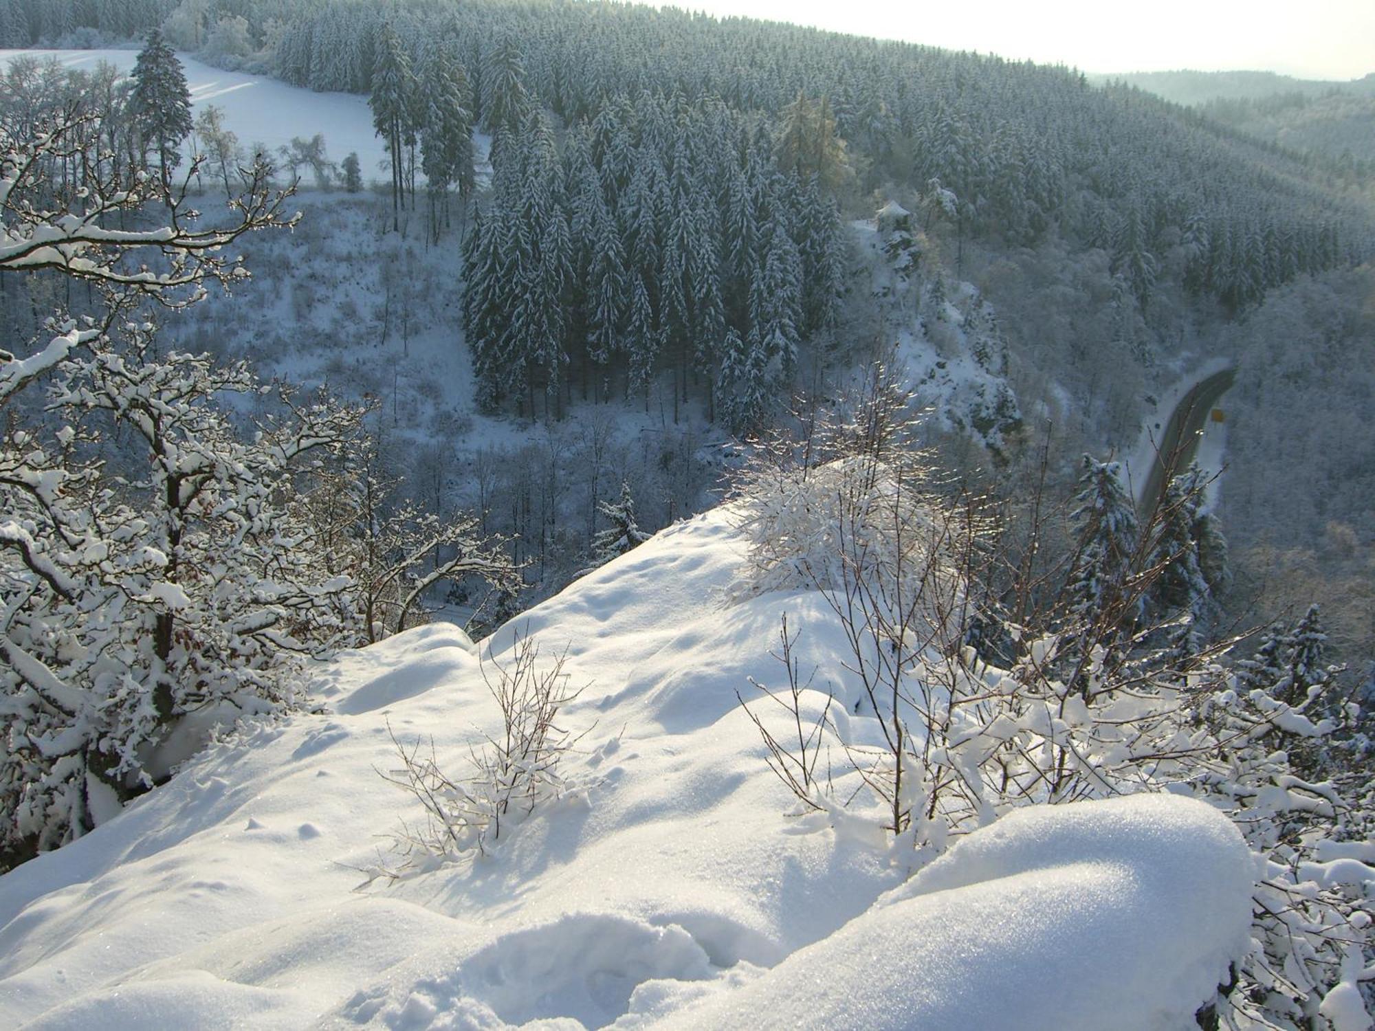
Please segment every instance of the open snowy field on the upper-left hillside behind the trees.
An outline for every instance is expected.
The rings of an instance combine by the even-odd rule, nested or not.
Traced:
[[[132,49],[0,49],[0,62],[8,65],[21,55],[55,59],[74,69],[94,69],[104,60],[125,73],[133,70],[138,58]],[[223,109],[226,128],[239,137],[242,147],[258,150],[261,144],[276,151],[293,136],[311,139],[323,132],[326,153],[336,164],[356,151],[366,180],[385,181],[389,175],[385,172],[390,168],[386,150],[373,131],[366,96],[316,93],[265,76],[221,71],[179,56],[191,89],[192,117],[205,104]]]

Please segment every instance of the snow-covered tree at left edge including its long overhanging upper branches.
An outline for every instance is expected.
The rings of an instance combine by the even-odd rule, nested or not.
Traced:
[[[311,594],[293,579],[308,553],[293,555],[287,543],[275,554],[292,536],[282,478],[302,447],[331,434],[312,414],[298,436],[275,423],[243,444],[210,399],[256,389],[245,370],[157,355],[146,324],[121,322],[140,298],[187,304],[205,280],[245,275],[223,249],[286,224],[267,169],[250,173],[234,223],[198,228],[161,177],[95,157],[94,118],[59,117],[32,139],[0,133],[11,154],[0,268],[52,269],[106,296],[102,320],[59,315],[32,353],[0,351],[0,406],[10,410],[0,448],[0,837],[22,851],[110,815],[155,775],[148,746],[192,709],[285,700],[289,687],[268,669],[292,642],[308,650],[314,621],[302,613],[329,606],[334,591]],[[80,208],[47,206],[51,162],[73,155]],[[104,228],[118,212],[155,203],[170,209],[164,227]],[[23,395],[40,379],[47,399],[36,406]],[[117,461],[114,440],[138,458]]]

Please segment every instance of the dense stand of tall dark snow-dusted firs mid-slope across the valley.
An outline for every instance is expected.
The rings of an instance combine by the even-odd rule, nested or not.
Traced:
[[[839,210],[817,175],[718,99],[608,102],[556,140],[528,107],[498,128],[491,198],[465,252],[463,323],[485,399],[645,395],[674,374],[723,422],[754,425],[770,367],[832,329]],[[760,157],[766,155],[766,157]]]

